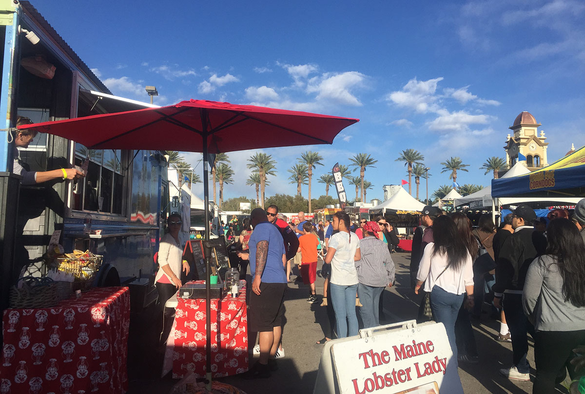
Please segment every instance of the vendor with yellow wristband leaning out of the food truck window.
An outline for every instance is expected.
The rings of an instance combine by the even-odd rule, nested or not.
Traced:
[[[24,116],[19,116],[16,119],[16,126],[22,125],[30,125],[33,123],[29,118]],[[15,174],[22,176],[21,183],[23,185],[34,185],[40,184],[42,182],[51,181],[53,179],[78,179],[83,177],[84,175],[82,172],[75,170],[75,168],[59,168],[57,170],[51,171],[29,171],[30,168],[28,164],[24,163],[20,160],[20,155],[18,153],[17,147],[27,148],[38,132],[35,129],[27,129],[27,130],[16,130],[12,132],[12,136],[14,137],[14,168],[13,172]]]

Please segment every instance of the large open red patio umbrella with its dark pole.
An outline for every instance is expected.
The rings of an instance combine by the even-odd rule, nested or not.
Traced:
[[[359,119],[205,100],[19,126],[91,149],[177,150],[203,153],[205,240],[209,240],[208,153],[253,148],[332,144]],[[206,253],[206,256],[209,254]],[[211,314],[206,258],[207,316]],[[207,377],[211,382],[211,325],[207,325]]]

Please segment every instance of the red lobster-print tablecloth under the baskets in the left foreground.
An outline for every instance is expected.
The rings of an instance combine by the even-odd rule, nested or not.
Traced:
[[[91,289],[50,308],[6,309],[0,393],[125,393],[129,327],[126,287]]]

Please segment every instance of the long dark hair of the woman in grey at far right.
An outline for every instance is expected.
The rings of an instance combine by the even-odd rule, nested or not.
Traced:
[[[557,258],[563,278],[565,301],[585,306],[585,244],[577,227],[569,219],[551,220],[546,229],[546,254]]]

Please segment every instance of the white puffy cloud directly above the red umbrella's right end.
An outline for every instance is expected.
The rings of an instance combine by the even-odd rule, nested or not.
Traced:
[[[357,71],[347,71],[342,74],[324,74],[322,79],[311,78],[307,86],[307,92],[318,92],[317,100],[333,101],[341,105],[362,106],[362,103],[350,90],[359,88],[365,75]]]

